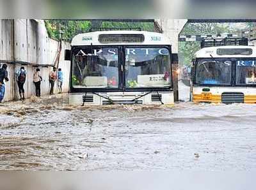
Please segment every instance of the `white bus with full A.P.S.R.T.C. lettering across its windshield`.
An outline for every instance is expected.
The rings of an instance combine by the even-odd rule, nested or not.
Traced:
[[[173,104],[170,40],[146,31],[97,31],[75,36],[70,103]]]

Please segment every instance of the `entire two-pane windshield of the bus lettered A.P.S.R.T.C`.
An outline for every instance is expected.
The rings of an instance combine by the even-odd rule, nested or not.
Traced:
[[[74,88],[135,89],[170,85],[168,48],[88,46],[72,51]]]

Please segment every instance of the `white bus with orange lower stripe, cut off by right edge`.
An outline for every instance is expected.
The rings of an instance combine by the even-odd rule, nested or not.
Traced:
[[[256,47],[202,48],[192,70],[195,103],[256,103]]]

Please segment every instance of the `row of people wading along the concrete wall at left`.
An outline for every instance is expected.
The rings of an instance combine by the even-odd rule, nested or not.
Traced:
[[[21,66],[20,69],[18,69],[15,72],[15,80],[18,85],[19,89],[19,95],[20,100],[25,99],[25,90],[24,90],[24,84],[26,82],[27,78],[27,72],[24,66]],[[35,95],[37,97],[41,96],[41,82],[43,78],[40,75],[40,69],[36,68],[35,73],[33,74],[33,83],[35,84]],[[50,95],[54,92],[54,84],[55,82],[58,82],[58,90],[59,93],[62,93],[62,84],[63,84],[63,72],[61,71],[61,68],[58,69],[58,72],[56,72],[56,68],[53,68],[52,71],[49,73],[49,84],[51,85],[50,88]],[[5,84],[4,82],[8,82],[8,71],[7,71],[7,64],[3,64],[3,66],[0,68],[0,103],[4,99],[5,94]]]

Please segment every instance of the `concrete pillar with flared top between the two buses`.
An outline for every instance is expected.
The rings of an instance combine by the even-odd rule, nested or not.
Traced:
[[[173,94],[174,101],[179,101],[179,87],[178,87],[178,72],[179,69],[179,34],[182,31],[185,24],[188,22],[186,19],[169,19],[159,18],[156,19],[157,26],[160,30],[170,39],[172,45],[173,64],[172,64],[172,76],[173,76]]]

